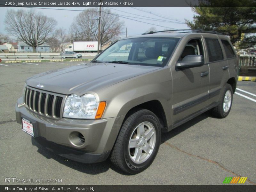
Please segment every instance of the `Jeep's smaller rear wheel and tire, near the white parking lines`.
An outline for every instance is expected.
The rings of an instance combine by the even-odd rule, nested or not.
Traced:
[[[219,118],[225,118],[228,116],[232,106],[232,101],[233,89],[230,84],[226,84],[219,105],[212,109],[212,115]]]

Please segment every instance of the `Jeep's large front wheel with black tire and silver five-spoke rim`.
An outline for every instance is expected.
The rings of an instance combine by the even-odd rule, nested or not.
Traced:
[[[157,116],[147,109],[138,110],[125,119],[110,160],[122,171],[137,174],[154,161],[160,141]]]

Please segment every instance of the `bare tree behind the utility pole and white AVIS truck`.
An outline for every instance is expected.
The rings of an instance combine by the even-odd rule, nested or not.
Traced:
[[[79,13],[70,26],[74,41],[98,41],[98,8],[90,8]],[[122,34],[124,22],[110,9],[102,9],[100,17],[100,44],[104,44]]]

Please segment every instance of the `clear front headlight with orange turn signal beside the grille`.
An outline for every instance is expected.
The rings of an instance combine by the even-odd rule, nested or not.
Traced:
[[[68,96],[63,117],[78,119],[99,119],[103,115],[106,102],[97,102],[92,94],[77,96],[75,94]]]

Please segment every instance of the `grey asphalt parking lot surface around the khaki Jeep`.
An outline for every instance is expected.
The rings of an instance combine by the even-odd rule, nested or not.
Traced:
[[[24,82],[35,74],[80,63],[0,65],[0,185],[222,185],[226,177],[236,176],[248,177],[242,185],[256,185],[256,82],[238,82],[239,94],[234,94],[227,118],[206,112],[163,134],[155,161],[137,175],[119,172],[110,161],[77,163],[39,146],[15,120]],[[7,177],[62,183],[6,183]]]

